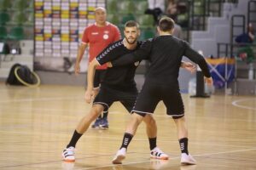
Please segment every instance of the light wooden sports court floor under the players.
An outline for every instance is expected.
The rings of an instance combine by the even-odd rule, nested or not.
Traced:
[[[121,166],[111,160],[119,149],[130,116],[119,103],[110,109],[108,130],[89,129],[77,144],[75,163],[61,161],[61,151],[79,119],[90,110],[84,88],[0,84],[0,169],[256,169],[256,98],[183,94],[189,127],[189,152],[196,166],[180,166],[176,127],[160,103],[154,113],[158,146],[169,161],[149,159],[144,125],[139,127]]]

